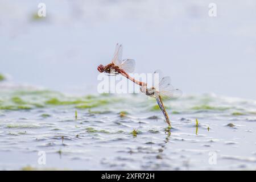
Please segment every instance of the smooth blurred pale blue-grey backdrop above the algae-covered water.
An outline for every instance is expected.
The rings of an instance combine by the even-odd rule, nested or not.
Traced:
[[[0,73],[14,82],[97,93],[97,65],[116,43],[135,72],[161,69],[185,94],[256,99],[254,0],[0,0]]]

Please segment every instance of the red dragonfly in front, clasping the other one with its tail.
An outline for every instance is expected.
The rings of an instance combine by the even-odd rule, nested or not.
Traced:
[[[98,65],[98,71],[103,73],[108,73],[109,75],[118,75],[121,74],[125,76],[129,80],[133,81],[135,84],[140,86],[146,86],[147,84],[142,81],[135,80],[135,78],[131,77],[129,73],[132,73],[135,68],[135,60],[134,59],[124,59],[122,60],[123,47],[122,44],[118,44],[115,46],[115,52],[111,63],[104,66],[102,64]]]

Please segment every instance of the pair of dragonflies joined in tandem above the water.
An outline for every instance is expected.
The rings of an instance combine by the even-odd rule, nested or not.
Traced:
[[[105,72],[112,75],[121,74],[122,76],[125,76],[129,80],[133,81],[135,84],[140,85],[142,93],[145,93],[147,96],[156,98],[156,102],[158,102],[158,105],[162,110],[164,117],[166,118],[166,122],[169,126],[171,126],[168,113],[166,109],[164,109],[162,98],[178,98],[181,96],[182,92],[179,89],[175,89],[171,85],[171,78],[168,76],[163,77],[160,71],[154,72],[154,75],[158,74],[159,80],[155,82],[155,85],[147,88],[147,83],[135,80],[135,78],[129,75],[129,73],[134,71],[135,61],[133,59],[122,60],[122,52],[122,45],[117,44],[111,63],[106,66],[102,64],[99,65],[98,71],[101,73]]]

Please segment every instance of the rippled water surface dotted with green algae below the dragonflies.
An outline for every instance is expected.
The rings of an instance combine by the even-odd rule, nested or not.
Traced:
[[[256,101],[202,94],[164,104],[171,130],[143,94],[78,97],[2,84],[0,168],[256,169]]]

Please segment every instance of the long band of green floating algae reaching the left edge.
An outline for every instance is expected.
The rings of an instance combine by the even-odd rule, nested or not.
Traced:
[[[28,110],[54,106],[90,109],[104,106],[117,100],[95,96],[68,97],[59,92],[49,90],[17,90],[14,92],[1,92],[0,90],[0,94],[0,110]]]

